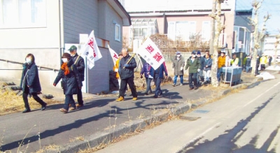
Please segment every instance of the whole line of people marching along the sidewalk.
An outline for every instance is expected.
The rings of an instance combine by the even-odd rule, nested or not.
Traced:
[[[83,81],[85,79],[85,61],[83,57],[77,54],[77,48],[75,45],[69,48],[69,53],[65,52],[62,55],[62,65],[59,69],[57,77],[53,82],[54,86],[61,80],[62,89],[65,94],[65,101],[63,108],[60,109],[61,112],[68,112],[69,110],[76,110],[76,108],[83,107],[83,95],[81,88],[83,86]],[[240,61],[235,54],[232,56],[232,60],[228,60],[225,56],[225,52],[221,52],[221,56],[218,57],[218,80],[221,80],[221,68],[228,66],[238,66]],[[246,65],[250,64],[250,57],[246,57]],[[22,87],[22,98],[25,103],[25,112],[30,112],[27,96],[33,96],[35,101],[41,104],[41,110],[45,110],[47,103],[38,97],[41,94],[41,85],[38,77],[38,68],[35,64],[35,57],[33,54],[27,54],[25,57],[26,63],[23,64],[22,78],[20,82],[20,87]],[[229,61],[229,62],[227,62]],[[172,69],[174,73],[173,86],[177,84],[177,79],[180,78],[180,86],[183,85],[183,74],[184,69],[188,70],[188,82],[191,89],[198,89],[200,85],[207,85],[211,82],[211,66],[212,59],[209,51],[205,52],[204,57],[202,57],[199,50],[194,50],[191,52],[191,56],[185,61],[181,52],[177,51],[176,56],[172,59]],[[134,85],[134,68],[137,67],[137,63],[132,56],[128,53],[126,48],[123,48],[119,54],[119,59],[116,65],[113,67],[113,71],[116,71],[116,78],[119,82],[119,95],[116,101],[125,100],[125,92],[127,90],[127,85],[130,87],[132,92],[132,100],[137,100],[137,89]],[[246,72],[250,70],[249,66],[246,66]],[[146,91],[145,95],[152,94],[151,89],[152,80],[155,82],[155,92],[154,97],[158,98],[162,96],[162,90],[160,89],[160,84],[163,78],[167,78],[167,66],[163,62],[158,68],[154,69],[148,62],[146,62],[140,72],[141,78],[146,79]],[[77,94],[78,105],[76,105],[73,94]]]

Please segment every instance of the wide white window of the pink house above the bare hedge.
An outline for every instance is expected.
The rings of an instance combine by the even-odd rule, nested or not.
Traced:
[[[168,22],[168,38],[176,41],[190,41],[190,36],[196,34],[196,22]]]

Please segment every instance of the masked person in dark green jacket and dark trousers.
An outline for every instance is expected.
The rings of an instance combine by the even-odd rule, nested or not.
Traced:
[[[188,69],[188,83],[191,89],[198,89],[197,86],[197,71],[200,71],[200,60],[195,55],[195,50],[192,52],[192,56],[187,60],[186,70]]]

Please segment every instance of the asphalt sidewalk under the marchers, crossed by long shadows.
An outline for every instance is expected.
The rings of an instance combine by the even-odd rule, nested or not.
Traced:
[[[129,96],[129,93],[123,102],[116,102],[115,100],[118,98],[116,95],[94,96],[93,99],[85,103],[83,108],[67,114],[59,112],[59,108],[62,108],[63,105],[61,103],[48,105],[44,111],[32,110],[25,114],[19,112],[4,115],[0,117],[1,151],[34,152],[43,146],[53,144],[64,146],[72,143],[76,138],[85,139],[83,143],[87,147],[87,141],[92,137],[103,140],[104,133],[109,133],[113,139],[127,132],[119,130],[124,126],[131,128],[130,126],[139,120],[143,124],[146,122],[144,119],[155,117],[157,113],[167,113],[176,105],[206,98],[213,94],[207,89],[192,91],[188,89],[186,84],[176,87],[166,85],[162,87],[164,97],[155,99],[153,94],[144,96],[139,92],[137,101],[132,101],[132,96]],[[58,93],[62,94],[63,92],[58,91]],[[102,142],[92,140],[90,146],[93,147],[98,143]],[[71,147],[74,145],[76,146],[76,144],[70,144]],[[79,148],[83,147],[76,146],[75,150],[73,148],[70,150],[76,152]],[[65,150],[64,152],[69,151]]]

